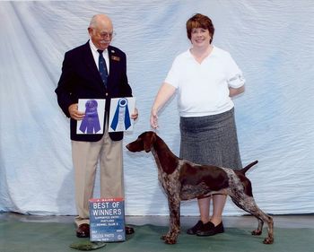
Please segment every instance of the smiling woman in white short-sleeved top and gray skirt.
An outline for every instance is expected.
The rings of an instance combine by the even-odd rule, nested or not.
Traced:
[[[244,91],[242,73],[231,55],[212,45],[214,25],[197,13],[187,22],[192,47],[177,56],[154,100],[151,126],[158,111],[177,92],[180,116],[180,158],[201,164],[241,169],[231,97]],[[197,199],[200,220],[188,234],[210,236],[223,232],[222,210],[227,196]]]

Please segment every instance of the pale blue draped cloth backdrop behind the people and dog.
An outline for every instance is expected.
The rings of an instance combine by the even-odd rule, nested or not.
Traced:
[[[213,19],[214,45],[247,80],[234,100],[244,164],[267,213],[314,213],[314,4],[311,0],[0,2],[0,211],[75,214],[69,121],[54,90],[65,51],[85,43],[94,13],[112,18],[112,45],[127,56],[140,117],[124,143],[150,130],[149,115],[175,56],[190,47],[185,23]],[[158,134],[179,153],[176,97]],[[163,215],[167,201],[151,153],[124,152],[127,215]],[[96,182],[95,197],[99,194]],[[182,204],[197,215],[196,201]],[[231,201],[225,215],[243,214]]]

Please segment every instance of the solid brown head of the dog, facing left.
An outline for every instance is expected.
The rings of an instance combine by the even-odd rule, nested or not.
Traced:
[[[156,137],[153,131],[146,131],[139,135],[134,142],[126,144],[126,149],[130,152],[150,152]]]

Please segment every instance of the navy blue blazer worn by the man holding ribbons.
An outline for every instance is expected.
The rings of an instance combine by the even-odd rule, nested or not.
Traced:
[[[100,78],[89,41],[65,53],[56,93],[57,102],[66,117],[70,117],[69,106],[79,99],[106,99],[105,110],[109,113],[111,98],[132,97],[132,89],[126,76],[126,54],[112,46],[109,46],[108,52],[110,67],[107,88]],[[73,118],[70,119],[70,128],[71,140],[74,141],[96,142],[102,137],[77,135],[76,120]],[[109,136],[113,141],[119,141],[123,138],[123,132],[109,133]]]

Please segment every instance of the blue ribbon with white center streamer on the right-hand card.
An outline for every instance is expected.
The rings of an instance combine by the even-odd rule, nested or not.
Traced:
[[[130,120],[130,115],[128,113],[126,98],[121,98],[118,100],[117,109],[112,119],[110,127],[113,130],[116,130],[118,124],[121,123],[122,120],[124,121],[124,128],[128,129],[131,126],[131,120]]]

